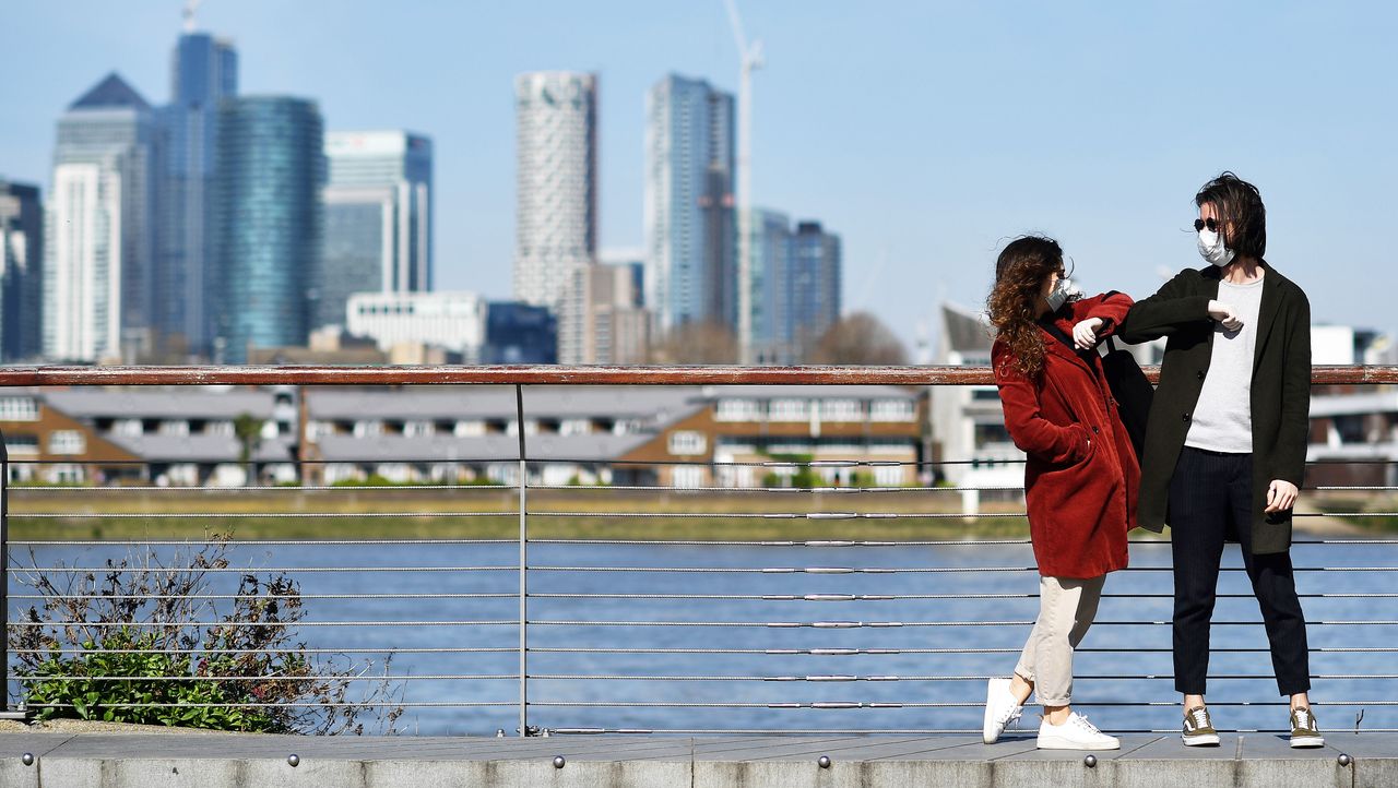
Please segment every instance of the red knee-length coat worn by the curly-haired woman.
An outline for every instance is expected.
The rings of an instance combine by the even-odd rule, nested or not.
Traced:
[[[1072,337],[1079,320],[1106,321],[1111,334],[1131,309],[1131,298],[1099,295],[1064,306],[1054,323]],[[1002,341],[991,348],[1005,428],[1028,454],[1025,500],[1039,573],[1088,578],[1125,569],[1127,531],[1135,528],[1141,467],[1131,436],[1102,374],[1102,358],[1085,362],[1044,330],[1044,370],[1039,380],[1015,369]],[[1090,439],[1090,440],[1089,440]]]

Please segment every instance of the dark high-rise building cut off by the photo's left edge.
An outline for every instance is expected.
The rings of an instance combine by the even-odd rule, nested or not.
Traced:
[[[43,352],[43,205],[39,187],[0,177],[0,360]]]

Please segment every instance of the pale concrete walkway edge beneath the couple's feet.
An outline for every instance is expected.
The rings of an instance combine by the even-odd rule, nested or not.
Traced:
[[[1135,735],[1123,738],[1121,750],[1096,753],[1096,764],[1088,766],[1085,753],[1039,752],[1033,738],[984,746],[966,736],[495,739],[7,734],[0,735],[0,785],[1398,785],[1398,735],[1328,734],[1327,740],[1328,746],[1318,750],[1292,750],[1276,735],[1247,734],[1226,735],[1219,747],[1186,749],[1177,736]],[[1342,753],[1349,757],[1341,757]],[[562,761],[556,761],[558,756]],[[828,767],[821,766],[822,756],[829,759]]]

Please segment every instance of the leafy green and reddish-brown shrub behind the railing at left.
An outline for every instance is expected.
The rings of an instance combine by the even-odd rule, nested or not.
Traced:
[[[362,734],[361,718],[377,718],[380,732],[394,732],[403,707],[389,661],[351,699],[373,666],[305,652],[294,580],[249,573],[231,601],[212,598],[210,570],[228,567],[226,550],[228,539],[214,537],[193,552],[162,557],[147,548],[108,560],[101,577],[62,563],[21,574],[43,597],[10,625],[27,704],[41,720]]]

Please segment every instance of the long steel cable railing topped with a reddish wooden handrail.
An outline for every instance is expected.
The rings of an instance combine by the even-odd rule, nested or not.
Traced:
[[[1155,379],[1156,370],[1148,370]],[[1316,384],[1391,384],[1398,383],[1398,367],[1316,367]],[[217,511],[200,510],[148,511],[138,514],[151,521],[199,520],[218,524],[225,520],[271,520],[294,524],[302,520],[365,518],[382,521],[384,528],[404,518],[439,518],[459,524],[488,523],[495,535],[480,538],[369,538],[369,539],[253,539],[235,541],[236,550],[259,550],[273,556],[270,564],[210,567],[214,576],[238,577],[250,571],[288,573],[323,578],[351,576],[348,585],[337,590],[296,594],[299,599],[320,605],[324,618],[299,620],[294,626],[338,633],[315,641],[305,654],[361,654],[417,658],[426,672],[390,676],[404,686],[431,686],[433,694],[412,690],[407,700],[380,700],[410,710],[510,710],[520,735],[540,732],[601,734],[741,734],[741,732],[973,732],[969,722],[983,699],[983,682],[1008,675],[1028,627],[1033,623],[1036,567],[1028,539],[1009,538],[911,538],[916,531],[938,523],[1015,523],[1022,507],[998,511],[960,511],[938,506],[935,496],[959,492],[1016,493],[1016,486],[756,486],[661,488],[624,483],[617,486],[576,486],[542,483],[537,468],[561,462],[566,457],[540,457],[530,451],[526,390],[530,386],[703,386],[703,384],[889,384],[889,386],[984,386],[993,379],[984,367],[27,367],[0,369],[0,386],[171,386],[171,384],[239,384],[239,386],[428,386],[428,384],[507,384],[514,388],[519,455],[516,482],[481,486],[415,485],[411,488],[375,488],[376,496],[431,493],[440,509],[390,509],[373,511],[344,510],[271,510]],[[412,458],[403,458],[412,460]],[[459,458],[471,464],[477,460]],[[498,462],[498,460],[492,460]],[[336,485],[257,486],[232,489],[152,488],[152,486],[27,486],[25,496],[70,499],[64,509],[45,511],[8,509],[10,464],[0,454],[0,652],[3,683],[7,689],[4,710],[11,711],[10,658],[20,651],[6,640],[11,627],[46,626],[48,622],[24,622],[10,618],[11,602],[31,604],[43,594],[13,594],[10,580],[24,573],[77,576],[106,571],[101,562],[63,563],[57,566],[10,566],[11,548],[75,550],[92,548],[164,549],[186,546],[179,539],[99,541],[8,538],[10,518],[24,517],[41,523],[96,523],[131,518],[124,506],[102,510],[102,502],[120,502],[123,496],[260,496],[275,507],[281,496],[302,502],[326,496],[363,493],[362,488]],[[322,460],[295,460],[298,465],[323,465]],[[485,462],[484,458],[480,462]],[[955,465],[966,460],[916,461],[787,461],[730,462],[759,469],[773,468],[860,468],[886,467],[927,469]],[[1373,460],[1366,462],[1374,462]],[[625,465],[625,462],[608,462]],[[636,467],[702,465],[714,462],[646,461]],[[531,479],[531,472],[534,478]],[[1395,486],[1352,485],[1317,488],[1325,493],[1394,493]],[[551,502],[566,493],[565,509]],[[699,506],[712,496],[727,496],[734,506],[724,510]],[[110,497],[108,497],[110,496]],[[317,497],[319,496],[319,497]],[[505,506],[506,496],[512,506]],[[660,511],[640,504],[622,506],[626,496],[667,496],[684,502],[674,510]],[[95,503],[89,499],[95,499]],[[597,504],[579,502],[596,499]],[[911,500],[911,503],[907,503]],[[418,502],[419,503],[419,502]],[[489,503],[489,506],[487,506]],[[610,504],[610,506],[608,506]],[[1394,511],[1329,513],[1324,517],[1398,517]],[[1320,513],[1297,513],[1304,527]],[[751,527],[801,527],[823,530],[809,538],[706,539],[667,538],[663,532],[672,523],[723,520]],[[611,537],[608,530],[621,524],[644,521],[643,538]],[[505,538],[505,523],[517,525],[517,537]],[[572,524],[568,538],[538,535],[554,523]],[[513,527],[512,525],[512,527]],[[907,528],[905,528],[905,525]],[[851,530],[877,527],[899,538],[849,538]],[[534,532],[531,534],[531,528]],[[899,528],[903,528],[900,532]],[[892,531],[889,531],[892,530]],[[884,532],[881,531],[881,532]],[[576,534],[584,534],[577,537]],[[906,534],[906,535],[905,535]],[[1170,679],[1169,641],[1169,553],[1167,542],[1132,539],[1132,566],[1109,578],[1089,645],[1079,648],[1082,700],[1075,706],[1096,708],[1111,721],[1114,731],[1165,731],[1167,728],[1128,722],[1128,711],[1149,711],[1176,706]],[[1343,615],[1317,615],[1309,611],[1313,673],[1317,683],[1331,686],[1383,687],[1377,696],[1336,697],[1317,693],[1318,707],[1335,711],[1398,707],[1398,673],[1377,666],[1390,664],[1398,654],[1391,629],[1398,626],[1398,608],[1385,612],[1374,605],[1395,599],[1391,577],[1398,571],[1398,541],[1369,537],[1299,538],[1296,571],[1307,605],[1355,601]],[[363,548],[380,548],[363,553]],[[317,560],[295,563],[291,556],[315,556]],[[351,559],[337,555],[351,553]],[[386,553],[391,563],[373,559]],[[464,557],[459,557],[464,556]],[[1360,563],[1327,562],[1327,556]],[[485,560],[475,560],[485,559]],[[629,562],[626,559],[630,559]],[[984,559],[984,560],[980,560]],[[147,567],[148,571],[182,571],[180,567]],[[1243,580],[1241,567],[1225,566],[1220,606],[1251,594],[1234,580]],[[1362,584],[1321,581],[1334,577],[1377,577],[1380,588]],[[419,580],[419,578],[428,580]],[[1130,578],[1118,581],[1117,577]],[[1002,580],[1004,578],[1004,580]],[[1137,580],[1139,578],[1139,580]],[[1314,580],[1313,580],[1314,578]],[[389,581],[404,583],[394,588]],[[1114,590],[1123,583],[1128,587]],[[370,588],[363,588],[370,585]],[[219,590],[215,590],[219,591]],[[235,594],[204,592],[187,601],[232,599]],[[151,597],[145,601],[154,599]],[[361,611],[348,615],[334,605],[348,604]],[[454,618],[419,618],[372,615],[379,604],[436,604],[450,608],[464,605],[471,613]],[[507,606],[505,606],[507,605]],[[660,605],[654,615],[640,615]],[[958,605],[959,615],[945,613],[939,605]],[[826,615],[825,611],[851,611],[850,615]],[[717,613],[712,611],[719,611]],[[788,612],[790,611],[790,612]],[[1356,615],[1362,613],[1362,615]],[[352,612],[352,611],[351,611]],[[1236,612],[1215,616],[1215,644],[1219,630],[1257,633],[1255,613],[1240,618]],[[217,622],[147,622],[144,626],[214,626]],[[96,629],[119,626],[96,622]],[[264,626],[287,626],[268,623]],[[369,634],[386,643],[369,643]],[[1120,634],[1117,634],[1120,633]],[[1338,634],[1331,634],[1338,633]],[[1377,633],[1377,634],[1371,634]],[[115,648],[110,652],[150,652],[154,650]],[[197,654],[200,647],[185,651]],[[1285,701],[1261,701],[1272,693],[1265,689],[1271,673],[1265,669],[1265,644],[1253,637],[1230,640],[1215,648],[1211,680],[1225,687],[1258,682],[1248,694],[1215,690],[1215,707],[1269,707]],[[505,662],[505,661],[509,662]],[[713,659],[726,669],[706,671]],[[1124,661],[1142,665],[1127,669]],[[1345,669],[1345,659],[1360,666]],[[1246,665],[1244,665],[1246,662]],[[843,671],[826,665],[870,665],[865,671]],[[1223,668],[1219,668],[1219,665]],[[459,665],[477,666],[463,669]],[[893,668],[885,668],[892,665]],[[939,669],[934,669],[939,668]],[[123,676],[84,676],[94,680],[129,680]],[[203,676],[211,680],[253,680],[254,676]],[[1218,686],[1218,683],[1215,686]],[[510,692],[510,685],[514,692]],[[632,694],[612,694],[622,687]],[[858,687],[849,696],[822,696],[793,692],[790,687]],[[1093,687],[1090,694],[1086,687]],[[463,689],[464,687],[464,689]],[[579,690],[577,687],[583,687]],[[651,687],[665,687],[671,694],[656,697]],[[693,687],[702,687],[703,692]],[[735,692],[735,687],[744,687]],[[903,687],[902,690],[898,690]],[[1103,690],[1103,687],[1107,687]],[[898,692],[895,692],[898,690]],[[1387,694],[1384,694],[1387,693]],[[1219,697],[1222,696],[1222,699]],[[131,706],[161,706],[158,703]],[[239,703],[238,706],[257,706]],[[32,707],[31,707],[32,708]],[[825,713],[867,710],[867,725],[825,725]],[[688,717],[677,713],[721,715],[720,724],[685,725]],[[1323,711],[1324,713],[1324,711]],[[783,717],[786,715],[786,717]],[[819,724],[805,724],[809,715]],[[1220,717],[1223,713],[1219,714]],[[801,720],[791,720],[801,717]],[[1167,720],[1167,715],[1156,715]],[[491,715],[498,720],[498,714]],[[938,725],[951,718],[958,724]],[[617,724],[617,721],[650,724]],[[667,724],[653,724],[660,720]],[[846,718],[847,720],[847,718]],[[906,721],[911,722],[906,722]],[[603,724],[594,724],[601,721]],[[772,722],[779,722],[772,725]],[[542,725],[540,725],[542,722]],[[584,724],[593,722],[593,724]],[[788,724],[790,722],[790,724]],[[1339,722],[1336,718],[1335,722]],[[1359,721],[1355,722],[1356,728]],[[502,725],[503,728],[505,725]],[[1169,728],[1173,731],[1173,728]],[[1374,727],[1364,729],[1392,731]]]

